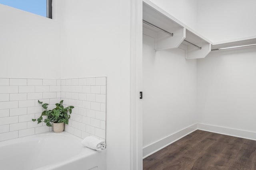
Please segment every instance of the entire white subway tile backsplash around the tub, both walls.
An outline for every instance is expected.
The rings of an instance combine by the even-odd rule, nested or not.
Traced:
[[[64,100],[75,108],[65,131],[77,137],[105,139],[106,77],[65,80],[0,78],[0,141],[52,131],[45,123],[37,124],[43,109]]]

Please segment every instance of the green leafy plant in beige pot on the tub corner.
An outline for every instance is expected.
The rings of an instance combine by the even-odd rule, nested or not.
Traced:
[[[32,119],[32,121],[38,121],[38,123],[44,122],[47,126],[52,126],[50,122],[53,123],[53,131],[55,133],[60,133],[64,130],[64,123],[68,125],[68,119],[72,113],[74,106],[65,107],[62,106],[63,100],[60,103],[56,103],[56,107],[52,110],[47,110],[47,103],[43,104],[38,100],[38,103],[42,104],[42,107],[45,109],[41,116],[38,119]],[[46,119],[43,120],[43,116],[46,116]]]

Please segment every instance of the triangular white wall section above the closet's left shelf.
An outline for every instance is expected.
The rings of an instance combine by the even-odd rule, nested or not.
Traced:
[[[150,0],[192,29],[197,27],[198,0]]]

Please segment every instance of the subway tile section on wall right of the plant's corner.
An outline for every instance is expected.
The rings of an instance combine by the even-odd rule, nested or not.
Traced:
[[[105,140],[106,77],[61,80],[61,98],[64,105],[75,107],[65,131]]]

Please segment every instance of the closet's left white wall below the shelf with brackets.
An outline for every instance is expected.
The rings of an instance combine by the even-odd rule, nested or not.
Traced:
[[[143,35],[143,147],[197,123],[196,60]]]

